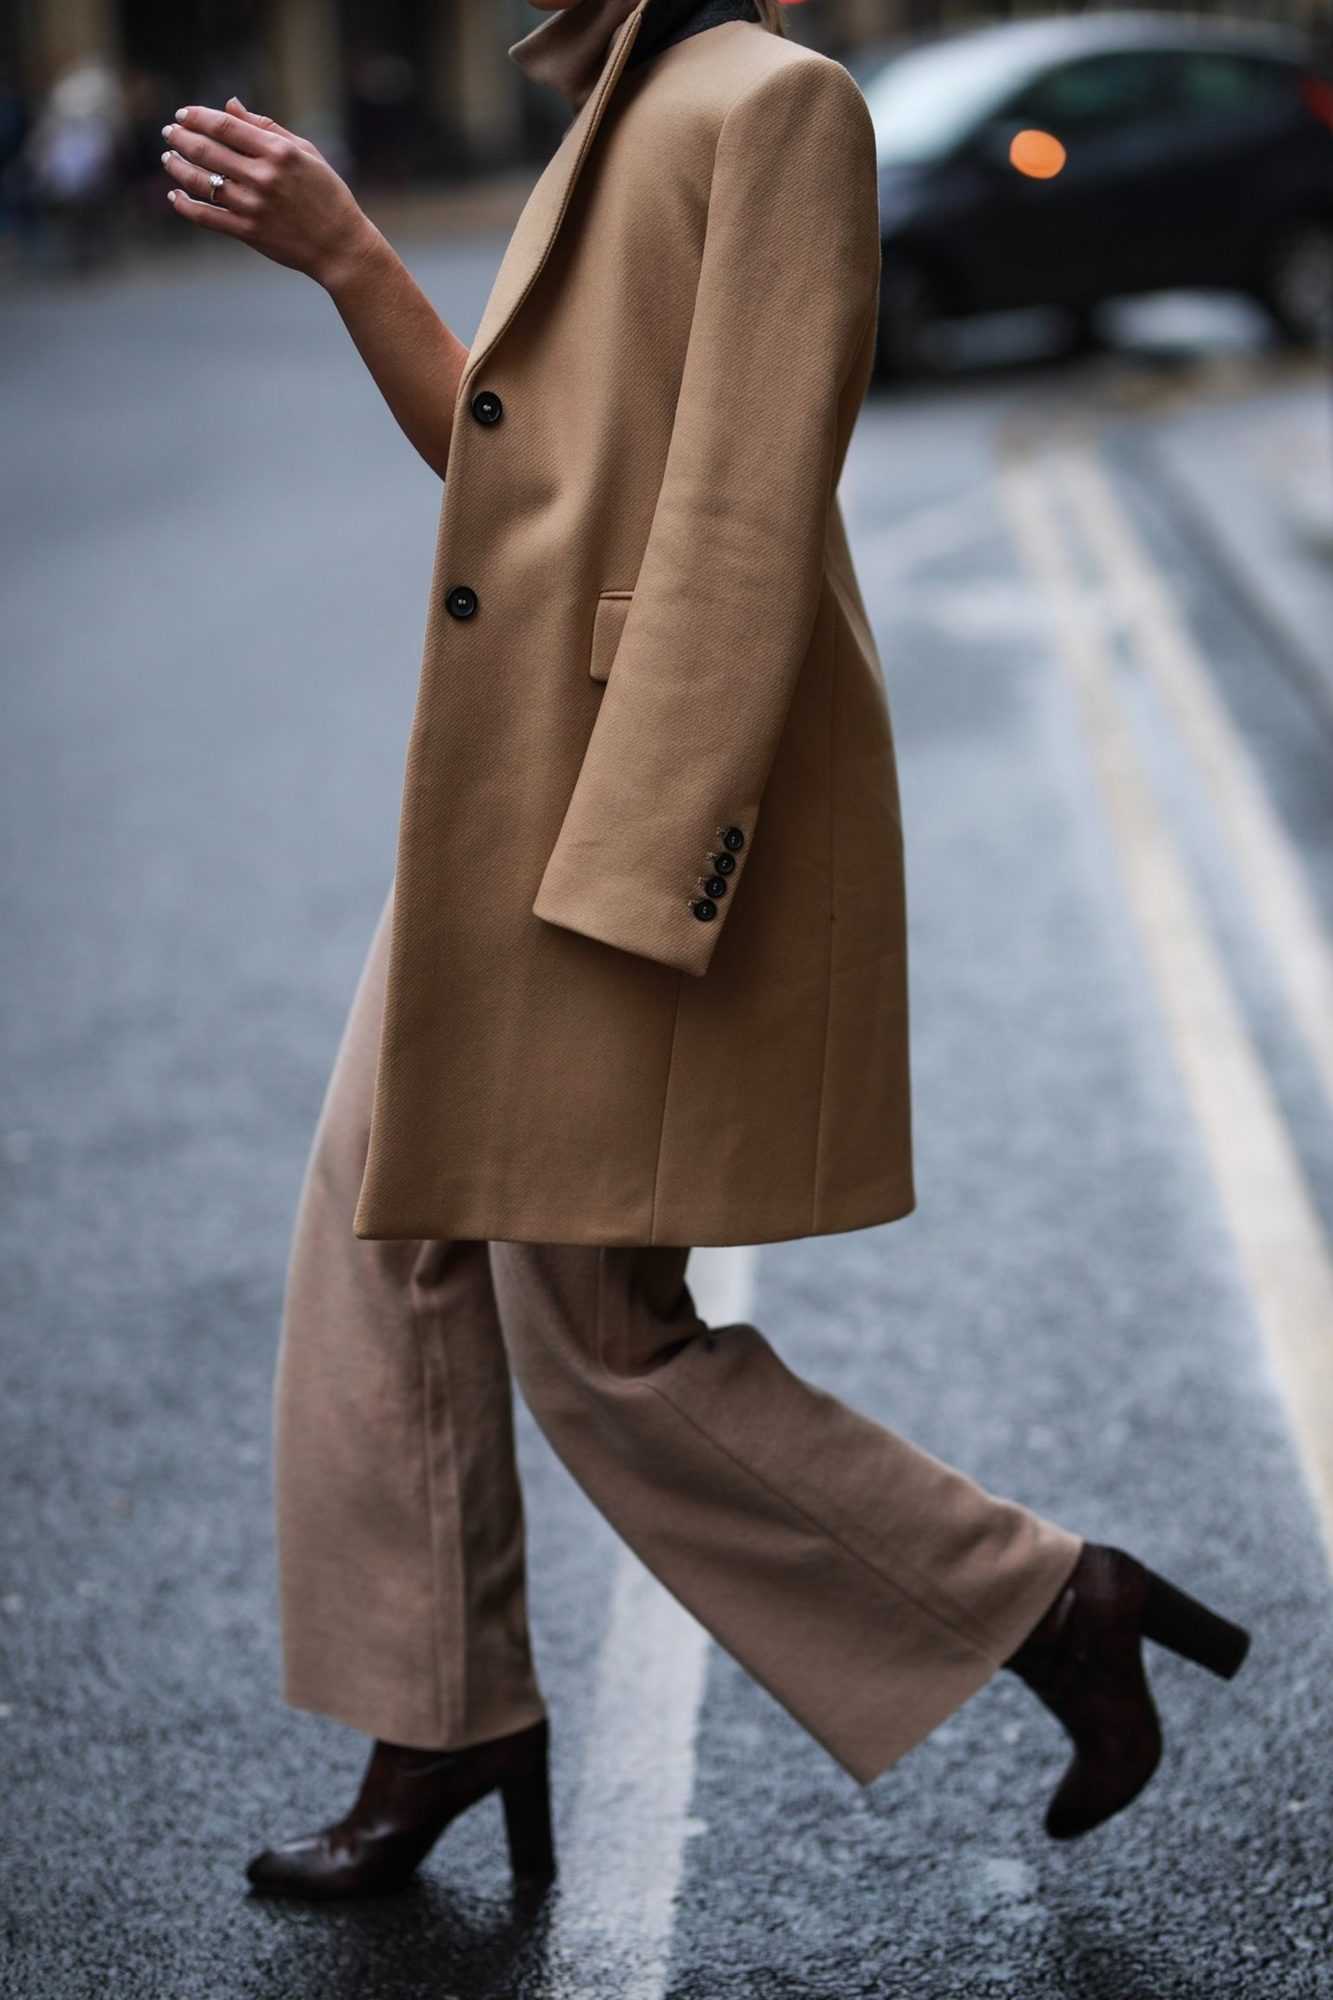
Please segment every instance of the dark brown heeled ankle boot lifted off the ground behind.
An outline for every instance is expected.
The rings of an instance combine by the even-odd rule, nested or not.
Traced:
[[[1005,1660],[1073,1740],[1073,1758],[1045,1814],[1053,1840],[1101,1826],[1157,1770],[1161,1724],[1143,1672],[1145,1638],[1223,1680],[1249,1652],[1249,1634],[1239,1626],[1123,1550],[1085,1542],[1045,1618]]]

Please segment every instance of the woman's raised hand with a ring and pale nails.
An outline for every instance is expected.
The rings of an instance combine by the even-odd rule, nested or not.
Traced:
[[[162,136],[172,148],[162,164],[178,182],[170,202],[198,228],[236,236],[330,290],[380,242],[324,154],[240,98],[220,112],[192,104]],[[216,202],[210,174],[224,176]]]

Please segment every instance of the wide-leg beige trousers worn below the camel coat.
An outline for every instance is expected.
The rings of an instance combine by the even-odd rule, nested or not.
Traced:
[[[1077,1536],[707,1328],[685,1250],[358,1242],[388,912],[302,1196],[278,1364],[286,1696],[460,1748],[544,1714],[510,1370],[693,1616],[861,1782],[1027,1636]]]

